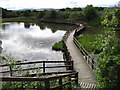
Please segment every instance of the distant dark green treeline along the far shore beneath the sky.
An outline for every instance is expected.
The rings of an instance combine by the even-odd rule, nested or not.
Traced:
[[[12,11],[2,8],[2,18],[30,17],[43,19],[67,19],[67,20],[90,20],[97,16],[97,11],[103,11],[104,7],[87,5],[85,8],[62,8],[59,10],[25,10]]]

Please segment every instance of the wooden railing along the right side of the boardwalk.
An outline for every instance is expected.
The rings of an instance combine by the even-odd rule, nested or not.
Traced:
[[[75,37],[73,39],[73,42],[82,53],[84,59],[86,60],[90,68],[94,71],[96,69],[97,61],[82,47],[82,45],[78,42],[78,40]]]

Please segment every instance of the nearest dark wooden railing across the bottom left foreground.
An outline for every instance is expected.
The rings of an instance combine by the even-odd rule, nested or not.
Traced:
[[[68,81],[63,82],[62,79],[64,78],[69,78]],[[37,77],[0,77],[2,78],[3,82],[12,82],[12,81],[29,81],[29,82],[43,82],[44,83],[44,90],[52,90],[52,89],[62,89],[65,85],[70,85],[71,87],[71,83],[75,82],[76,84],[78,84],[78,72],[72,72],[72,73],[68,73],[68,74],[64,74],[64,75],[59,75],[59,76],[51,76],[51,77],[45,77],[45,78],[37,78]],[[50,81],[56,80],[58,81],[58,85],[51,87],[50,85]],[[8,87],[9,88],[9,87]]]

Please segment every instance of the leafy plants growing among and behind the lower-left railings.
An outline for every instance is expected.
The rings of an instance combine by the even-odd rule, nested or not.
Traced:
[[[7,56],[0,56],[0,59],[1,59],[1,63],[4,63],[4,64],[9,64],[9,68],[12,68],[12,69],[17,69],[19,72],[23,72],[22,68],[19,66],[17,67],[17,63],[14,58],[10,55],[7,55]],[[21,70],[20,70],[21,68]],[[12,70],[10,69],[10,70]],[[44,74],[41,74],[39,73],[40,69],[36,69],[36,76],[35,77],[38,77],[38,78],[47,78],[47,77],[51,77],[51,76],[58,76],[59,74],[52,74],[52,75],[44,75]],[[12,73],[12,76],[13,76],[13,73]],[[30,71],[27,70],[25,72],[22,73],[21,76],[19,77],[32,77],[31,74],[30,74]],[[62,82],[65,83],[65,82],[68,82],[69,81],[69,77],[65,77],[65,78],[62,78]],[[54,87],[54,86],[57,86],[59,85],[58,84],[58,80],[51,80],[50,81],[50,87]],[[40,89],[40,90],[45,90],[45,83],[44,82],[38,82],[38,81],[35,81],[35,82],[28,82],[28,81],[15,81],[15,82],[12,82],[12,81],[9,81],[9,82],[2,82],[2,89],[3,90],[6,90],[6,89],[12,89],[12,90],[15,90],[15,89]],[[6,87],[7,86],[7,87]],[[63,90],[68,90],[68,88],[75,88],[77,87],[76,83],[75,82],[72,82],[71,83],[71,87],[69,85],[66,85],[65,87],[63,87]]]

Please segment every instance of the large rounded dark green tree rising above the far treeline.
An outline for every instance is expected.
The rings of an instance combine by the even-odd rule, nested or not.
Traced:
[[[87,5],[84,9],[85,19],[90,21],[97,17],[97,12],[92,5]]]

